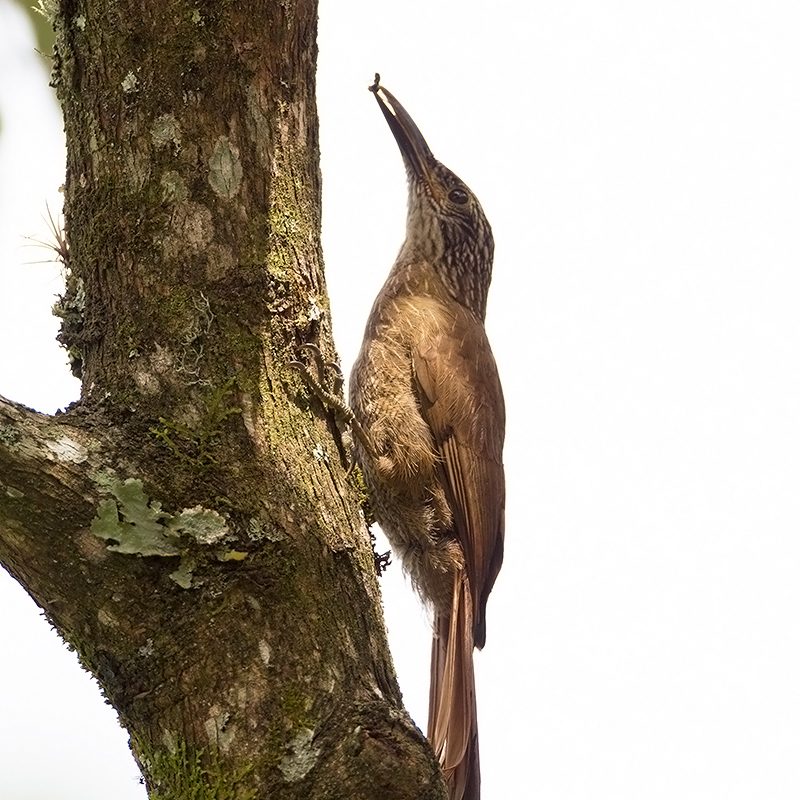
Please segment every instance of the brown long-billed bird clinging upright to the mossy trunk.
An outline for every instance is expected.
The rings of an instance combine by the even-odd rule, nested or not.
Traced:
[[[474,647],[503,561],[505,407],[483,323],[494,239],[477,197],[370,87],[408,173],[406,240],[350,376],[375,517],[433,611],[430,740],[453,800],[480,797]]]

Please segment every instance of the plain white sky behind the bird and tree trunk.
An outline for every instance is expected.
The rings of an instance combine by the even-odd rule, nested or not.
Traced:
[[[508,511],[476,658],[485,800],[795,800],[800,6],[376,8],[323,0],[320,25],[345,370],[405,222],[376,69],[497,242]],[[0,394],[54,411],[77,396],[57,270],[25,264],[47,254],[20,237],[46,235],[63,145],[15,12],[0,0]],[[113,712],[3,577],[0,793],[140,800]],[[383,587],[424,726],[427,622],[397,566]]]

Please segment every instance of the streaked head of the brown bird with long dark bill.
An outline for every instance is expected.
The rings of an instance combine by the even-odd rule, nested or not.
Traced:
[[[395,96],[370,86],[389,123],[408,173],[408,224],[401,255],[429,260],[450,294],[482,320],[492,280],[494,239],[478,198],[433,156]]]

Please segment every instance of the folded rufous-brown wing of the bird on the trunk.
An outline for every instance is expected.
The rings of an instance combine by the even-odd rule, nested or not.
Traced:
[[[413,353],[422,416],[441,455],[440,474],[464,551],[474,642],[486,639],[486,600],[503,560],[505,406],[483,325],[466,309],[423,332]]]

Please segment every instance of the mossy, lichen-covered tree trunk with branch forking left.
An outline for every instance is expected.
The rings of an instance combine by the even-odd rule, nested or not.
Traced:
[[[334,357],[313,0],[62,0],[82,397],[0,401],[0,563],[99,681],[151,798],[444,798],[359,492],[288,366]]]

